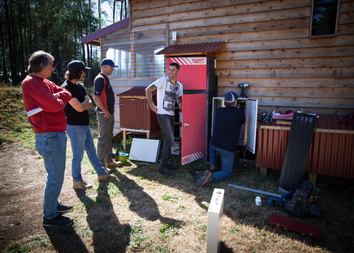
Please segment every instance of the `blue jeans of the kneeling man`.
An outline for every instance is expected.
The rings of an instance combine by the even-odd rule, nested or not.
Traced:
[[[216,152],[221,156],[221,171],[211,173],[209,182],[217,182],[223,179],[230,178],[232,175],[232,169],[234,166],[235,153],[223,150],[221,148],[211,145],[211,139],[209,142],[209,159],[210,166],[216,166]]]

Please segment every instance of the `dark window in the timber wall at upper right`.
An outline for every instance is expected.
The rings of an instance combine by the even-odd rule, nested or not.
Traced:
[[[310,37],[337,35],[341,0],[312,0]]]

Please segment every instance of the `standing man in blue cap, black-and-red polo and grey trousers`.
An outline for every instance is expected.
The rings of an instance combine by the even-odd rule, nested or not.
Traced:
[[[112,140],[114,128],[114,103],[115,97],[108,76],[112,74],[114,67],[118,67],[110,59],[103,59],[101,72],[93,82],[93,101],[96,103],[98,119],[97,157],[102,166],[118,167],[121,162],[113,161]]]

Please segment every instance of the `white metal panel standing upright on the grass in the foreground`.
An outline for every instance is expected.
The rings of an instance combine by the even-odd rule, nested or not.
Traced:
[[[211,197],[208,209],[206,253],[220,252],[224,191],[223,189],[214,189],[213,196]]]

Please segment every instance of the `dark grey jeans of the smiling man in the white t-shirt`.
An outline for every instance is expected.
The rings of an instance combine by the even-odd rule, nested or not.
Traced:
[[[165,141],[162,145],[161,162],[163,164],[169,163],[171,146],[175,140],[175,116],[169,114],[157,114],[157,120],[160,123],[162,133],[164,133]]]

